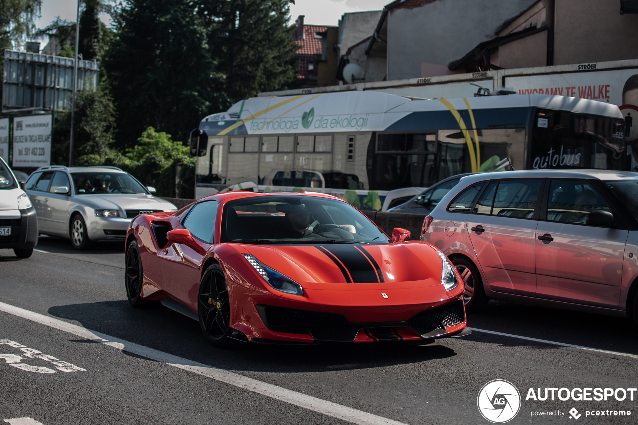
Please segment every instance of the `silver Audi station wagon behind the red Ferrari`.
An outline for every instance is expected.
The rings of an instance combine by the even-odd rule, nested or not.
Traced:
[[[70,238],[80,250],[93,242],[123,241],[131,219],[140,213],[177,211],[152,196],[154,187],[144,187],[117,167],[40,167],[26,188],[40,233]]]

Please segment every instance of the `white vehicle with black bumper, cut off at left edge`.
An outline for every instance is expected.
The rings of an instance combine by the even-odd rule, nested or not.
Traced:
[[[16,257],[28,258],[37,243],[36,210],[0,157],[0,248],[13,248]]]

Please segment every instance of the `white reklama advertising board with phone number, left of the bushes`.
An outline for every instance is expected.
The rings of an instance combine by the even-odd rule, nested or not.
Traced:
[[[13,119],[13,167],[41,167],[51,163],[52,115]]]

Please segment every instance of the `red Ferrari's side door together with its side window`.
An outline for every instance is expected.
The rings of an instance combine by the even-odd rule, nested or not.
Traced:
[[[158,250],[159,268],[168,292],[184,305],[197,308],[201,270],[205,251],[212,245],[217,215],[217,201],[204,201],[193,205],[182,219],[198,246],[169,242]]]

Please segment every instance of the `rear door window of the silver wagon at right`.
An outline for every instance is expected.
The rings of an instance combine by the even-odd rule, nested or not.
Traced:
[[[501,180],[494,197],[493,215],[531,219],[540,190],[540,180]]]

